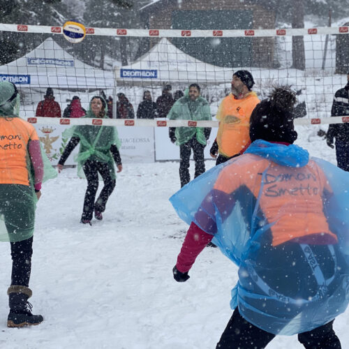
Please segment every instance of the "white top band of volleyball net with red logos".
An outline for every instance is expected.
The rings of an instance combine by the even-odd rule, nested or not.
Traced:
[[[27,33],[63,34],[61,27],[27,24],[0,24],[0,31],[22,31]],[[288,29],[235,29],[235,30],[181,30],[181,29],[112,29],[112,28],[87,28],[87,35],[101,36],[136,36],[160,38],[180,37],[265,37],[265,36],[309,36],[349,34],[349,27],[318,27],[318,28],[288,28]]]

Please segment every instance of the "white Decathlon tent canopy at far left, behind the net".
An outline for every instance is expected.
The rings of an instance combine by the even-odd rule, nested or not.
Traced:
[[[61,89],[114,88],[112,71],[84,64],[47,38],[24,57],[0,66],[0,81],[9,80],[23,87]]]

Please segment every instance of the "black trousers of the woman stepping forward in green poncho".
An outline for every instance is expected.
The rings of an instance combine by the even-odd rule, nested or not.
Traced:
[[[91,221],[94,210],[104,212],[107,200],[112,191],[114,191],[116,181],[112,179],[110,168],[107,163],[87,160],[82,166],[87,179],[87,189],[84,198],[84,208],[82,210],[82,219]],[[104,186],[95,203],[98,190],[98,172],[101,174]]]

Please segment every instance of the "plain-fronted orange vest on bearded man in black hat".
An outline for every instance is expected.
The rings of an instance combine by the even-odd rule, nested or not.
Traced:
[[[223,99],[216,114],[220,121],[216,138],[219,154],[230,158],[248,145],[250,117],[258,103],[260,100],[255,92],[242,99],[236,99],[232,94]]]

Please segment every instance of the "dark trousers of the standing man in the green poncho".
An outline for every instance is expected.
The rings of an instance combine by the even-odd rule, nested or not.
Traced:
[[[179,179],[181,180],[181,187],[191,181],[191,175],[189,174],[191,149],[193,149],[193,158],[195,161],[194,178],[205,172],[205,145],[199,143],[194,136],[191,140],[179,146],[179,155],[181,157],[181,162],[179,163]]]

